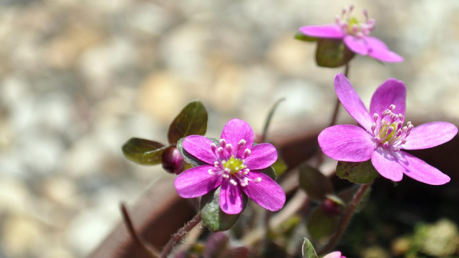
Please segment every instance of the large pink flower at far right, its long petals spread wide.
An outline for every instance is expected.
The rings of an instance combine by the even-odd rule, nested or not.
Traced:
[[[414,127],[405,119],[406,87],[402,81],[387,79],[371,98],[370,112],[342,74],[335,76],[335,90],[347,112],[364,128],[342,124],[319,134],[325,155],[339,161],[371,163],[381,176],[393,181],[403,174],[429,185],[443,185],[450,178],[404,150],[431,148],[457,134],[451,123],[431,122]],[[373,115],[370,115],[373,114]]]

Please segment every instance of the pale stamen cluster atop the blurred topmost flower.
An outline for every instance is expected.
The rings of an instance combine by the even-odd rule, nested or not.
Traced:
[[[349,10],[343,8],[341,16],[337,15],[335,22],[345,34],[353,35],[357,38],[363,38],[368,36],[369,33],[375,29],[375,19],[368,18],[368,11],[364,9],[362,12],[365,17],[365,22],[361,23],[351,13],[354,10],[354,6],[349,6]]]

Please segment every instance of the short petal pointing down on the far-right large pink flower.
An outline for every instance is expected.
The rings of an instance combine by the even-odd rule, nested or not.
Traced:
[[[384,148],[376,149],[371,157],[371,163],[381,176],[396,182],[402,180],[404,169],[393,156],[392,151]]]

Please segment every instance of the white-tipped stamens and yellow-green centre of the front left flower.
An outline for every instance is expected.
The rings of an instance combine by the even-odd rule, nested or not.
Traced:
[[[259,177],[253,180],[246,177],[250,169],[247,168],[244,162],[251,154],[250,149],[245,149],[240,158],[236,158],[232,154],[235,153],[236,156],[238,156],[239,151],[246,146],[246,140],[240,140],[235,150],[233,146],[224,139],[220,139],[219,145],[219,147],[215,143],[210,145],[215,157],[217,157],[217,161],[213,163],[214,168],[208,170],[210,175],[221,176],[224,179],[229,179],[229,183],[232,185],[236,186],[239,183],[242,187],[248,185],[249,181],[254,183],[259,183],[261,181]]]

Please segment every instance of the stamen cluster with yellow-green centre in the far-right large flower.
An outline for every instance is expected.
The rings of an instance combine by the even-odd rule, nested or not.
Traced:
[[[406,126],[403,126],[403,115],[393,113],[394,110],[395,105],[391,105],[389,109],[382,112],[379,123],[377,123],[379,114],[375,113],[373,115],[375,123],[371,125],[371,133],[375,137],[378,146],[385,148],[390,146],[393,151],[400,151],[399,146],[406,143],[406,137],[408,137],[414,125],[408,122]]]

